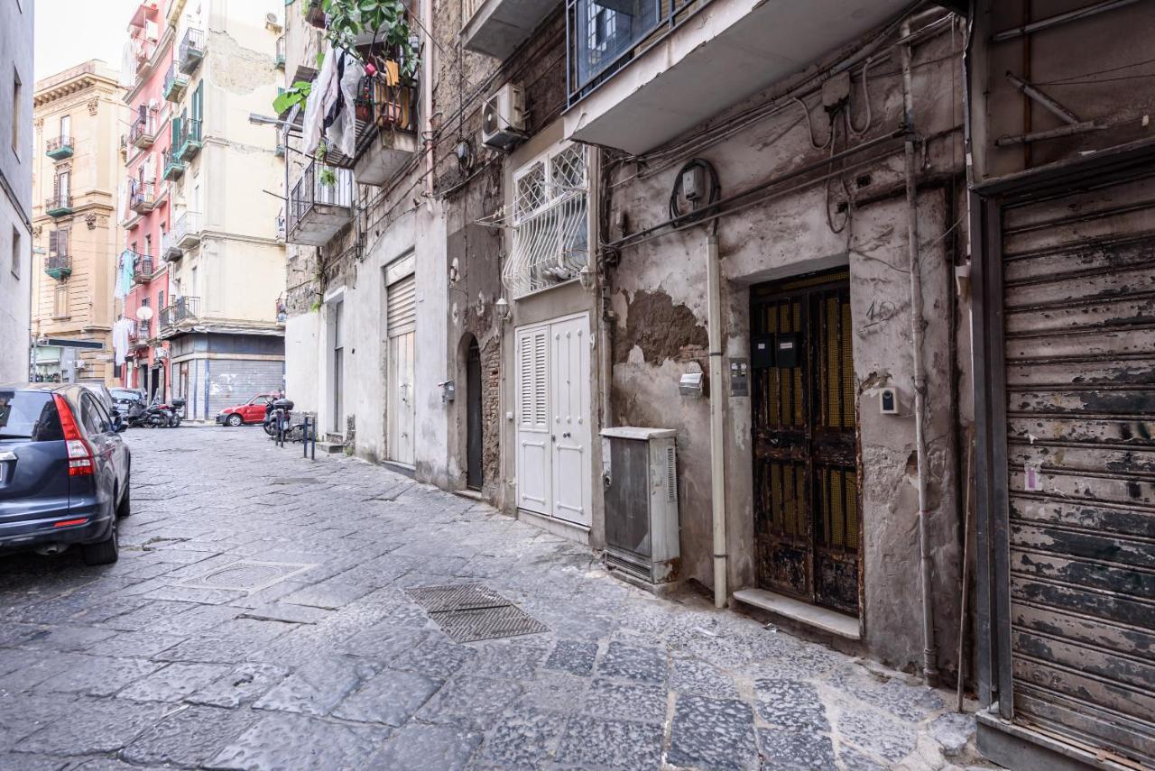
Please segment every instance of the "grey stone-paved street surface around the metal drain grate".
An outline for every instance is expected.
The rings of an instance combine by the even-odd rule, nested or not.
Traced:
[[[259,428],[125,436],[117,564],[0,559],[5,770],[973,762],[945,691],[654,598],[487,506]],[[454,642],[405,593],[445,584],[547,631]]]

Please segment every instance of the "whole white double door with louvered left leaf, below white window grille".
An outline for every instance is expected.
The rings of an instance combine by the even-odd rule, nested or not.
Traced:
[[[590,524],[589,317],[515,334],[517,506]]]

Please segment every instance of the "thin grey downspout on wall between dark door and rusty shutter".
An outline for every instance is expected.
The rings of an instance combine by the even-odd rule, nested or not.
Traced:
[[[910,22],[902,23],[902,37],[910,35]],[[911,76],[910,43],[902,46],[902,102],[907,129],[915,126],[915,97]],[[938,652],[934,648],[934,613],[931,601],[931,551],[927,533],[926,478],[930,473],[926,456],[926,370],[923,366],[923,278],[918,247],[918,188],[915,181],[915,139],[906,142],[907,172],[907,250],[910,268],[910,343],[915,362],[915,451],[918,458],[918,559],[923,605],[923,676],[927,684],[938,680]]]

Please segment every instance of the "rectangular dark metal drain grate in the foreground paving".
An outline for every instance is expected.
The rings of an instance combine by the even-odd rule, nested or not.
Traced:
[[[550,630],[485,584],[410,586],[405,593],[425,608],[441,631],[459,643]]]

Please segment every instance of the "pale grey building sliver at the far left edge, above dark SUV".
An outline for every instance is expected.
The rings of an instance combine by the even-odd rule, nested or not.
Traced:
[[[29,376],[32,297],[32,2],[0,8],[0,381]]]

